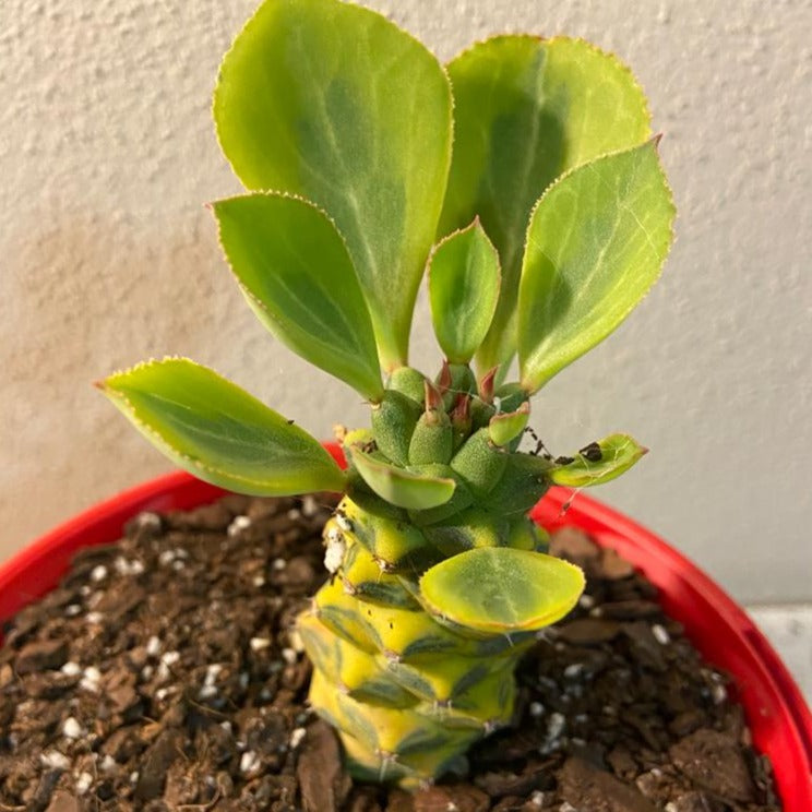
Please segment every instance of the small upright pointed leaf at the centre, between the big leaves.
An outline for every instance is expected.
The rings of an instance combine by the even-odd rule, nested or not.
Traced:
[[[451,363],[468,363],[497,309],[499,254],[479,220],[442,240],[429,260],[434,333]]]

